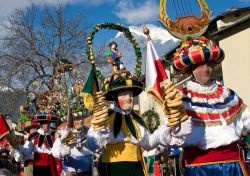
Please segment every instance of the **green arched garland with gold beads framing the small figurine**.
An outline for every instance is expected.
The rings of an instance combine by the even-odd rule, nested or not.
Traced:
[[[134,48],[134,52],[136,55],[136,67],[135,67],[135,74],[139,77],[141,76],[141,66],[142,66],[142,54],[140,50],[139,43],[136,41],[135,37],[131,34],[129,31],[129,28],[124,27],[121,24],[115,24],[115,23],[101,23],[97,24],[95,28],[92,30],[92,32],[89,33],[88,38],[87,38],[87,47],[86,47],[86,54],[88,56],[88,59],[90,60],[91,64],[96,66],[95,63],[95,56],[94,56],[94,51],[92,47],[92,40],[94,38],[94,35],[100,31],[101,29],[108,29],[108,30],[118,30],[120,32],[123,32],[125,37],[131,42]],[[104,77],[101,73],[100,70],[96,70],[96,75],[97,77],[103,82]]]

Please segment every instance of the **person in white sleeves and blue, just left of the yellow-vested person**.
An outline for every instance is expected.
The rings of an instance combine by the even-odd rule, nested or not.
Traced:
[[[63,159],[62,176],[91,176],[93,174],[93,154],[87,148],[77,143],[77,139],[68,124],[58,128],[60,138],[57,138],[52,154]],[[78,131],[77,131],[78,132]]]

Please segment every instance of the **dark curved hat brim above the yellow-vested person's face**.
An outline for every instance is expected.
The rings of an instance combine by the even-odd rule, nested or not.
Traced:
[[[127,90],[131,90],[133,91],[133,96],[137,96],[142,92],[142,87],[141,86],[123,86],[123,87],[117,87],[117,88],[113,88],[112,90],[109,90],[108,92],[106,92],[104,94],[106,100],[108,101],[114,101],[115,96],[121,92],[121,91],[127,91]]]

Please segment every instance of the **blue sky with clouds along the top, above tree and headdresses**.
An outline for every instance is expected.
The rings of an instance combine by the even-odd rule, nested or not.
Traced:
[[[155,24],[162,26],[157,19],[159,18],[160,0],[0,0],[0,17],[8,15],[15,8],[25,8],[34,2],[39,6],[40,3],[56,3],[61,1],[70,5],[70,13],[80,12],[86,15],[89,25],[94,27],[97,23],[114,22],[125,26]],[[174,0],[187,2],[191,4],[191,9],[198,14],[199,9],[195,0]],[[168,1],[170,7],[168,14],[175,16],[173,0]],[[206,0],[209,9],[213,12],[211,17],[227,11],[232,7],[250,6],[250,0]],[[172,3],[172,4],[171,4]],[[172,5],[172,8],[171,8]],[[105,35],[103,35],[105,34]],[[102,31],[98,37],[111,36],[113,32]]]

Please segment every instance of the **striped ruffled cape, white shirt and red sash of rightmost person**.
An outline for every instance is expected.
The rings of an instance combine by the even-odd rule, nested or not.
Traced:
[[[180,91],[193,123],[183,144],[186,166],[241,162],[237,141],[243,129],[250,132],[250,109],[242,99],[216,81],[188,81]]]

